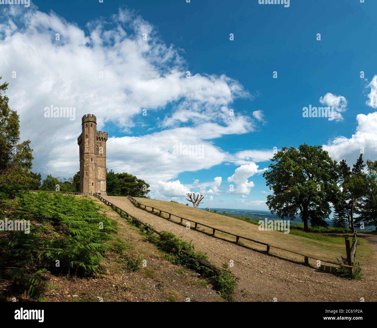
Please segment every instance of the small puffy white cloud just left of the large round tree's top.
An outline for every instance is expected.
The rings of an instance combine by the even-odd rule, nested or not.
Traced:
[[[259,166],[256,165],[254,162],[251,162],[247,165],[241,165],[240,167],[236,168],[234,174],[231,177],[228,177],[228,182],[234,182],[237,185],[237,188],[230,188],[228,190],[229,194],[249,194],[251,188],[254,187],[254,182],[248,181],[248,178],[254,176],[254,174],[260,174],[267,170],[258,169]]]

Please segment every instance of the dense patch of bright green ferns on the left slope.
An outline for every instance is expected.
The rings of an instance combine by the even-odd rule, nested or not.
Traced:
[[[44,300],[41,290],[51,286],[43,273],[97,274],[112,247],[107,242],[116,233],[116,222],[99,213],[90,199],[23,192],[11,202],[0,191],[0,205],[0,219],[31,221],[29,234],[0,231],[0,279],[13,280],[35,299]]]

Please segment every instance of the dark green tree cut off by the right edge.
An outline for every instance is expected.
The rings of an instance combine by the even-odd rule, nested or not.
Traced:
[[[356,223],[364,222],[364,225],[374,225],[377,229],[377,160],[366,161],[368,174],[365,181],[365,194],[360,202],[359,217]]]

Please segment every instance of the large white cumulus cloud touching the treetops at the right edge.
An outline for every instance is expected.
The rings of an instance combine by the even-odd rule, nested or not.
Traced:
[[[345,159],[351,165],[356,162],[360,152],[365,160],[377,158],[377,112],[359,114],[356,120],[356,133],[350,138],[340,136],[323,145],[333,160]]]

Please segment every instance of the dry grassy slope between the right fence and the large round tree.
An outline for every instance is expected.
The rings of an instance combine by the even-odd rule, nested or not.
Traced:
[[[238,234],[239,236],[245,236],[251,239],[255,239],[261,242],[276,245],[285,249],[290,249],[295,252],[311,255],[323,260],[329,260],[331,262],[337,262],[336,259],[340,256],[345,257],[345,241],[344,237],[338,236],[324,236],[317,233],[303,233],[298,234],[284,234],[279,231],[259,231],[258,225],[251,224],[233,217],[224,216],[221,214],[211,213],[203,211],[192,206],[182,205],[174,202],[166,202],[163,200],[154,200],[146,198],[135,198],[138,202],[153,206],[163,211],[177,214],[187,219],[192,219],[197,222],[202,222],[206,225],[213,226],[230,233]],[[150,208],[149,208],[150,210]],[[159,213],[155,210],[155,213]],[[168,214],[162,213],[161,216],[168,217]],[[180,219],[172,216],[172,221],[180,222]],[[185,221],[183,221],[185,223]],[[212,233],[212,230],[205,226],[198,225],[198,229],[207,233]],[[216,231],[216,236],[235,241],[235,237]],[[349,235],[351,236],[351,235]],[[367,263],[372,253],[372,247],[368,241],[359,238],[360,244],[357,246],[357,261],[360,264]],[[242,243],[253,249],[265,251],[266,246],[257,243],[250,242],[242,239]],[[194,243],[195,244],[195,243]],[[303,257],[282,251],[276,248],[271,248],[270,253],[283,257],[285,259],[291,259],[303,262]],[[312,265],[315,265],[314,260],[309,260]]]

